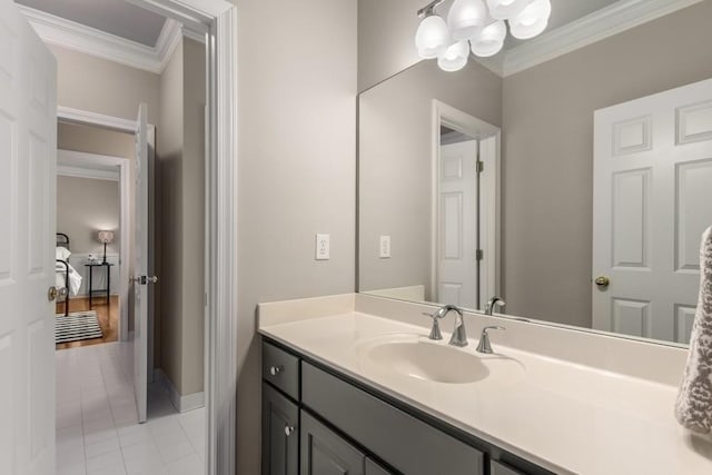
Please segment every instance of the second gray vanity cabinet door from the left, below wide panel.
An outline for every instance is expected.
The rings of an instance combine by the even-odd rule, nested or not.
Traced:
[[[364,475],[366,457],[301,410],[301,475]]]

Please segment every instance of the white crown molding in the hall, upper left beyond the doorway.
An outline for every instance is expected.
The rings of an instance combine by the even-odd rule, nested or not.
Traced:
[[[145,71],[161,73],[182,34],[197,41],[180,22],[167,19],[155,47],[138,43],[26,6],[17,6],[40,38],[51,44],[91,55]]]

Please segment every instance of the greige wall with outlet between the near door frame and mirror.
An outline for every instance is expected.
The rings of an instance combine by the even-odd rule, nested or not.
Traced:
[[[260,472],[256,305],[355,288],[356,2],[237,0],[237,464]],[[316,261],[315,234],[330,234]]]

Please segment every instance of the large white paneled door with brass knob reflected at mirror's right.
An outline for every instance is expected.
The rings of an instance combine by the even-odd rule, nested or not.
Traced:
[[[712,226],[712,80],[594,117],[593,326],[686,343]]]

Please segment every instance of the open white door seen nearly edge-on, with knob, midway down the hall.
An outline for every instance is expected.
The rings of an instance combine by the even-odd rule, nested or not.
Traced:
[[[141,103],[136,129],[134,196],[134,389],[138,420],[146,422],[148,390],[148,106]]]

